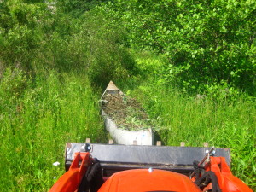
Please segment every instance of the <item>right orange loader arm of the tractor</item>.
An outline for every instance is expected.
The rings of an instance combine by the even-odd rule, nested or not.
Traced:
[[[210,163],[205,169],[214,172],[218,177],[218,185],[222,192],[253,192],[252,189],[232,174],[224,157],[210,157]],[[207,191],[209,188],[211,186],[207,186],[203,191]]]

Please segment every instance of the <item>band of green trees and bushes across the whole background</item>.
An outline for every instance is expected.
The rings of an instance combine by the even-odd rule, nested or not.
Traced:
[[[127,54],[119,48],[125,46],[165,55],[168,62],[159,77],[166,86],[198,92],[221,84],[255,94],[254,1],[9,0],[2,1],[0,9],[3,63],[20,63],[28,69],[38,60],[50,67],[84,66],[97,55],[91,55],[88,47],[92,50],[99,44],[102,49],[96,53],[105,49],[108,55],[100,54],[102,58],[94,61],[108,66],[106,61],[119,55],[109,65],[120,61],[124,66]],[[67,47],[76,42],[84,44],[76,46],[81,50],[72,58]],[[107,68],[118,68],[113,66]]]

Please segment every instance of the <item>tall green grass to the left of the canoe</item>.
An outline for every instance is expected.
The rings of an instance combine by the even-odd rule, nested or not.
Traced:
[[[97,96],[82,75],[27,78],[7,69],[0,103],[0,191],[47,191],[64,172],[65,143],[105,141]]]

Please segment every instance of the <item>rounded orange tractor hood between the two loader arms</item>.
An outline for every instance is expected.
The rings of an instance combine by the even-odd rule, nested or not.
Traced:
[[[98,192],[183,191],[200,192],[189,177],[177,172],[136,169],[117,172],[109,177]]]

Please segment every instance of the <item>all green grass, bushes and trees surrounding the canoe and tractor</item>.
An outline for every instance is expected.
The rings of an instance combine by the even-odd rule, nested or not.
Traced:
[[[106,142],[109,80],[166,145],[232,148],[255,189],[255,15],[250,0],[0,1],[0,190],[48,190],[66,142]]]

